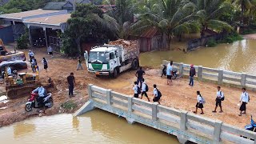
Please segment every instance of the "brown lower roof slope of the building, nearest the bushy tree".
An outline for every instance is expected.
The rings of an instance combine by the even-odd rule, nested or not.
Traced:
[[[71,18],[71,14],[59,14],[41,18],[29,18],[24,21],[24,23],[36,23],[36,24],[46,24],[60,26],[62,23],[66,23],[67,20]]]

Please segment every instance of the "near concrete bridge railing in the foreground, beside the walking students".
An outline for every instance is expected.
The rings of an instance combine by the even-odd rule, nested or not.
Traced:
[[[182,136],[197,143],[246,143],[256,144],[256,134],[249,130],[227,125],[218,120],[204,118],[185,110],[177,110],[158,103],[146,102],[112,90],[89,85],[88,94],[94,107],[118,114],[124,118],[133,118],[135,122],[155,129]],[[245,136],[247,138],[242,138]]]

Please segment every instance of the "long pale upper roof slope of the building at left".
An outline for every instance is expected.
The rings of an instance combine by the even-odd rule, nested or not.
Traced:
[[[26,18],[38,18],[46,15],[56,15],[56,14],[66,14],[66,10],[30,10],[23,11],[20,13],[11,13],[11,14],[1,14],[0,18],[22,20]]]

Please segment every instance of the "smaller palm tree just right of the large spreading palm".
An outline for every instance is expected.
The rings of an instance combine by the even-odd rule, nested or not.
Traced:
[[[224,0],[191,0],[197,7],[197,15],[202,26],[201,36],[205,35],[205,30],[232,30],[227,22],[219,20],[223,13],[229,10],[229,5],[224,4]]]

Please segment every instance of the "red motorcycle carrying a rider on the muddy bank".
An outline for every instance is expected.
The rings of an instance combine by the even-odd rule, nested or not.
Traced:
[[[43,103],[41,104],[38,101],[38,94],[37,93],[31,93],[30,98],[26,102],[25,110],[27,112],[31,111],[32,108],[51,108],[54,105],[54,100],[52,98],[52,94],[46,94],[46,96],[43,98]]]

